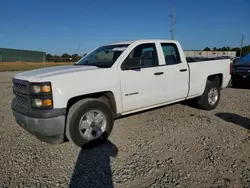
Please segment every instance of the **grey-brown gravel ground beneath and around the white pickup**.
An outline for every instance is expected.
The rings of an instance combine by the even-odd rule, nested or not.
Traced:
[[[250,187],[250,90],[225,89],[218,108],[185,104],[115,122],[109,142],[48,145],[20,128],[11,77],[0,73],[0,187]]]

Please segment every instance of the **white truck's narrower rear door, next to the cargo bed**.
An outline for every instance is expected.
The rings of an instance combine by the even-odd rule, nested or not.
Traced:
[[[189,69],[186,61],[181,60],[180,52],[175,43],[160,43],[161,58],[165,64],[166,101],[182,100],[187,97],[189,89]]]

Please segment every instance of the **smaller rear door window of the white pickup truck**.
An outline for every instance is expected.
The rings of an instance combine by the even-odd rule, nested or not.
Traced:
[[[173,43],[162,43],[161,44],[166,65],[175,65],[181,63],[180,54],[178,48]]]

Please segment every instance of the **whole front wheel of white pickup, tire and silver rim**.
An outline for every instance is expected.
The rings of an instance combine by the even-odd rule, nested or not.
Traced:
[[[109,137],[113,123],[108,104],[99,99],[83,99],[69,109],[66,136],[79,147],[93,146]]]

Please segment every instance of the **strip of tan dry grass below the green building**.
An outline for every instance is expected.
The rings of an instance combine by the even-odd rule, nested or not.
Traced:
[[[34,62],[34,63],[24,63],[24,62],[0,62],[0,71],[25,71],[32,69],[39,69],[44,67],[54,67],[60,65],[74,64],[73,62]]]

